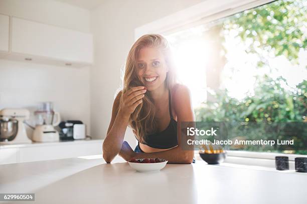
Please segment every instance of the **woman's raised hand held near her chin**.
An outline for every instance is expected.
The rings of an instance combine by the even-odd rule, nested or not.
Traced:
[[[122,100],[120,101],[119,111],[125,115],[130,115],[137,105],[142,102],[146,89],[144,86],[135,86],[130,88],[123,94]]]

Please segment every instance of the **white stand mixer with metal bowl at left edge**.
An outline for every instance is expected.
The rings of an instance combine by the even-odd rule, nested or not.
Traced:
[[[28,109],[4,108],[0,110],[1,143],[31,143],[24,125],[24,120],[29,117]]]

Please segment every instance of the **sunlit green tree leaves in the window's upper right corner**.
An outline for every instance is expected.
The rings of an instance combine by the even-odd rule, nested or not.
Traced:
[[[297,63],[299,49],[307,45],[306,19],[306,0],[277,0],[227,18],[224,29],[236,30],[243,41],[252,40],[247,52],[272,51]]]

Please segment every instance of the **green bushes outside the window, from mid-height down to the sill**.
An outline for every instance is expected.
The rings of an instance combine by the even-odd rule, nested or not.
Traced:
[[[302,81],[295,89],[287,90],[281,86],[285,82],[282,77],[273,80],[265,75],[264,78],[258,78],[258,80],[255,95],[246,96],[241,101],[228,96],[227,89],[218,92],[216,102],[208,101],[203,104],[203,107],[195,109],[196,121],[248,121],[250,123],[248,129],[244,129],[244,125],[239,123],[235,123],[235,126],[227,123],[230,125],[228,128],[228,138],[230,139],[233,139],[234,136],[243,136],[245,139],[251,140],[289,139],[285,129],[288,130],[288,126],[291,124],[292,130],[297,129],[297,126],[293,126],[296,125],[295,123],[289,122],[307,122],[307,81]],[[270,131],[267,130],[268,128]],[[278,129],[278,131],[272,131],[272,129]],[[306,132],[306,125],[300,126],[300,130],[296,131],[298,133],[294,133],[292,138],[299,142],[295,142],[292,148],[276,145],[271,148],[259,148],[255,145],[249,145],[244,146],[241,150],[278,150],[278,152],[307,154],[307,150],[297,150],[306,149],[307,137],[302,136],[302,132]]]

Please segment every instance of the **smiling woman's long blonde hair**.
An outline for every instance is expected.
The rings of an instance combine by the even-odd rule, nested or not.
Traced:
[[[123,76],[123,89],[125,93],[131,87],[144,85],[137,76],[136,61],[139,50],[143,47],[160,48],[165,56],[165,61],[169,67],[165,79],[165,87],[172,88],[176,83],[175,63],[173,60],[172,49],[168,40],[160,34],[145,34],[139,37],[130,48],[128,53]],[[143,102],[140,103],[130,115],[128,126],[130,126],[138,139],[143,142],[146,134],[155,133],[157,130],[157,119],[155,118],[155,105],[150,94],[145,93]]]

